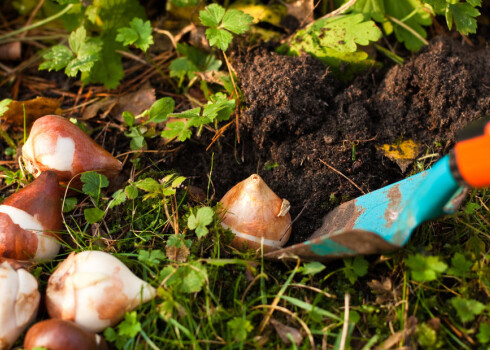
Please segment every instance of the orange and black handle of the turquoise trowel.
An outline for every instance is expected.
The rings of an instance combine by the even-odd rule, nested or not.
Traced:
[[[490,187],[490,122],[482,131],[479,136],[458,142],[451,157],[451,168],[459,175],[455,177],[477,188]]]

